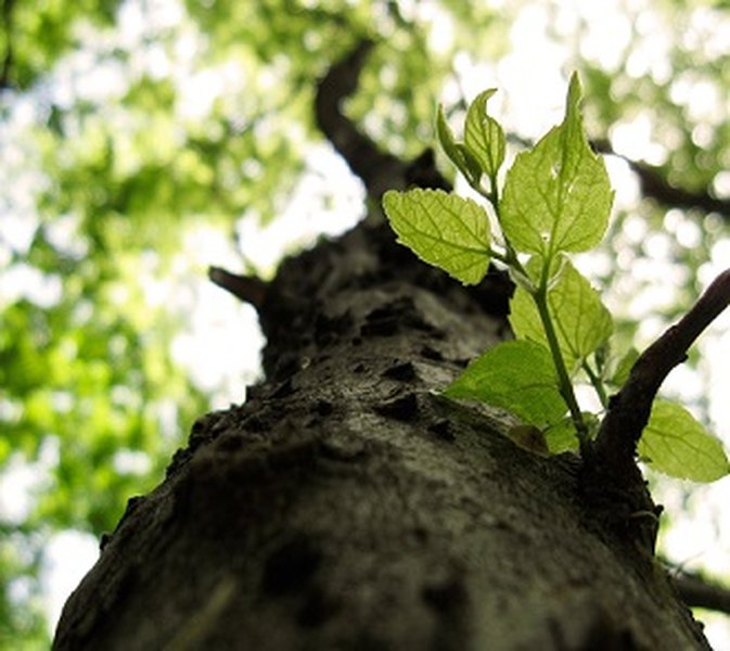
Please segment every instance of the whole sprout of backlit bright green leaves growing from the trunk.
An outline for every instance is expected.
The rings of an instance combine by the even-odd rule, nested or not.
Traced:
[[[477,201],[440,190],[389,191],[383,206],[398,241],[426,263],[464,284],[478,283],[494,263],[516,284],[510,304],[515,341],[486,350],[445,394],[513,412],[538,429],[553,452],[582,448],[599,421],[580,408],[574,384],[590,384],[605,409],[637,357],[632,349],[614,353],[611,312],[571,260],[602,241],[613,191],[585,133],[577,75],[563,122],[517,154],[500,186],[505,136],[487,112],[495,92],[470,104],[463,142],[441,108],[436,117],[444,152],[490,214]],[[655,403],[639,454],[661,472],[697,482],[730,470],[720,443],[687,409],[666,400]]]

